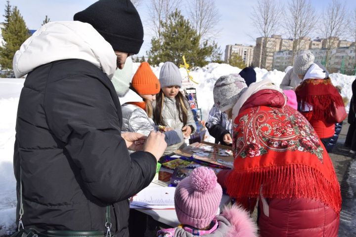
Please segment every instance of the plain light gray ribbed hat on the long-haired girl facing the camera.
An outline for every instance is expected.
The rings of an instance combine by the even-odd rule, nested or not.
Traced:
[[[161,88],[172,85],[181,87],[182,77],[178,67],[172,62],[165,62],[161,68],[159,81]]]

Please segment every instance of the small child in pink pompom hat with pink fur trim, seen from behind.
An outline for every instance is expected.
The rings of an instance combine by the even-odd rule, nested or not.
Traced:
[[[239,206],[225,208],[216,215],[223,195],[213,170],[195,168],[183,179],[175,192],[175,206],[179,225],[164,229],[158,237],[256,237],[257,227],[247,212]]]

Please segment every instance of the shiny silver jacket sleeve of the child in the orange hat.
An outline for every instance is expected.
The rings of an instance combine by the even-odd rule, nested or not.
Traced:
[[[146,112],[140,108],[131,113],[129,128],[130,131],[138,132],[146,136],[148,136],[152,130],[156,130],[152,119],[148,118]]]

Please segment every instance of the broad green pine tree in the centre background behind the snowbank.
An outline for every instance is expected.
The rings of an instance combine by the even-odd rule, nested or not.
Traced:
[[[147,54],[153,65],[171,61],[178,66],[183,63],[182,56],[185,55],[185,59],[193,67],[205,66],[208,63],[206,58],[211,56],[214,45],[210,45],[208,41],[200,44],[199,41],[200,36],[176,9],[168,16],[167,22],[162,22],[161,39],[152,38],[151,49]]]

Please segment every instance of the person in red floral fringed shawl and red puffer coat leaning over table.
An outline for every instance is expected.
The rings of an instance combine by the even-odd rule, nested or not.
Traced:
[[[314,129],[270,80],[231,93],[235,80],[214,87],[216,106],[234,121],[234,169],[218,181],[251,212],[259,200],[262,237],[336,237],[340,186]]]

